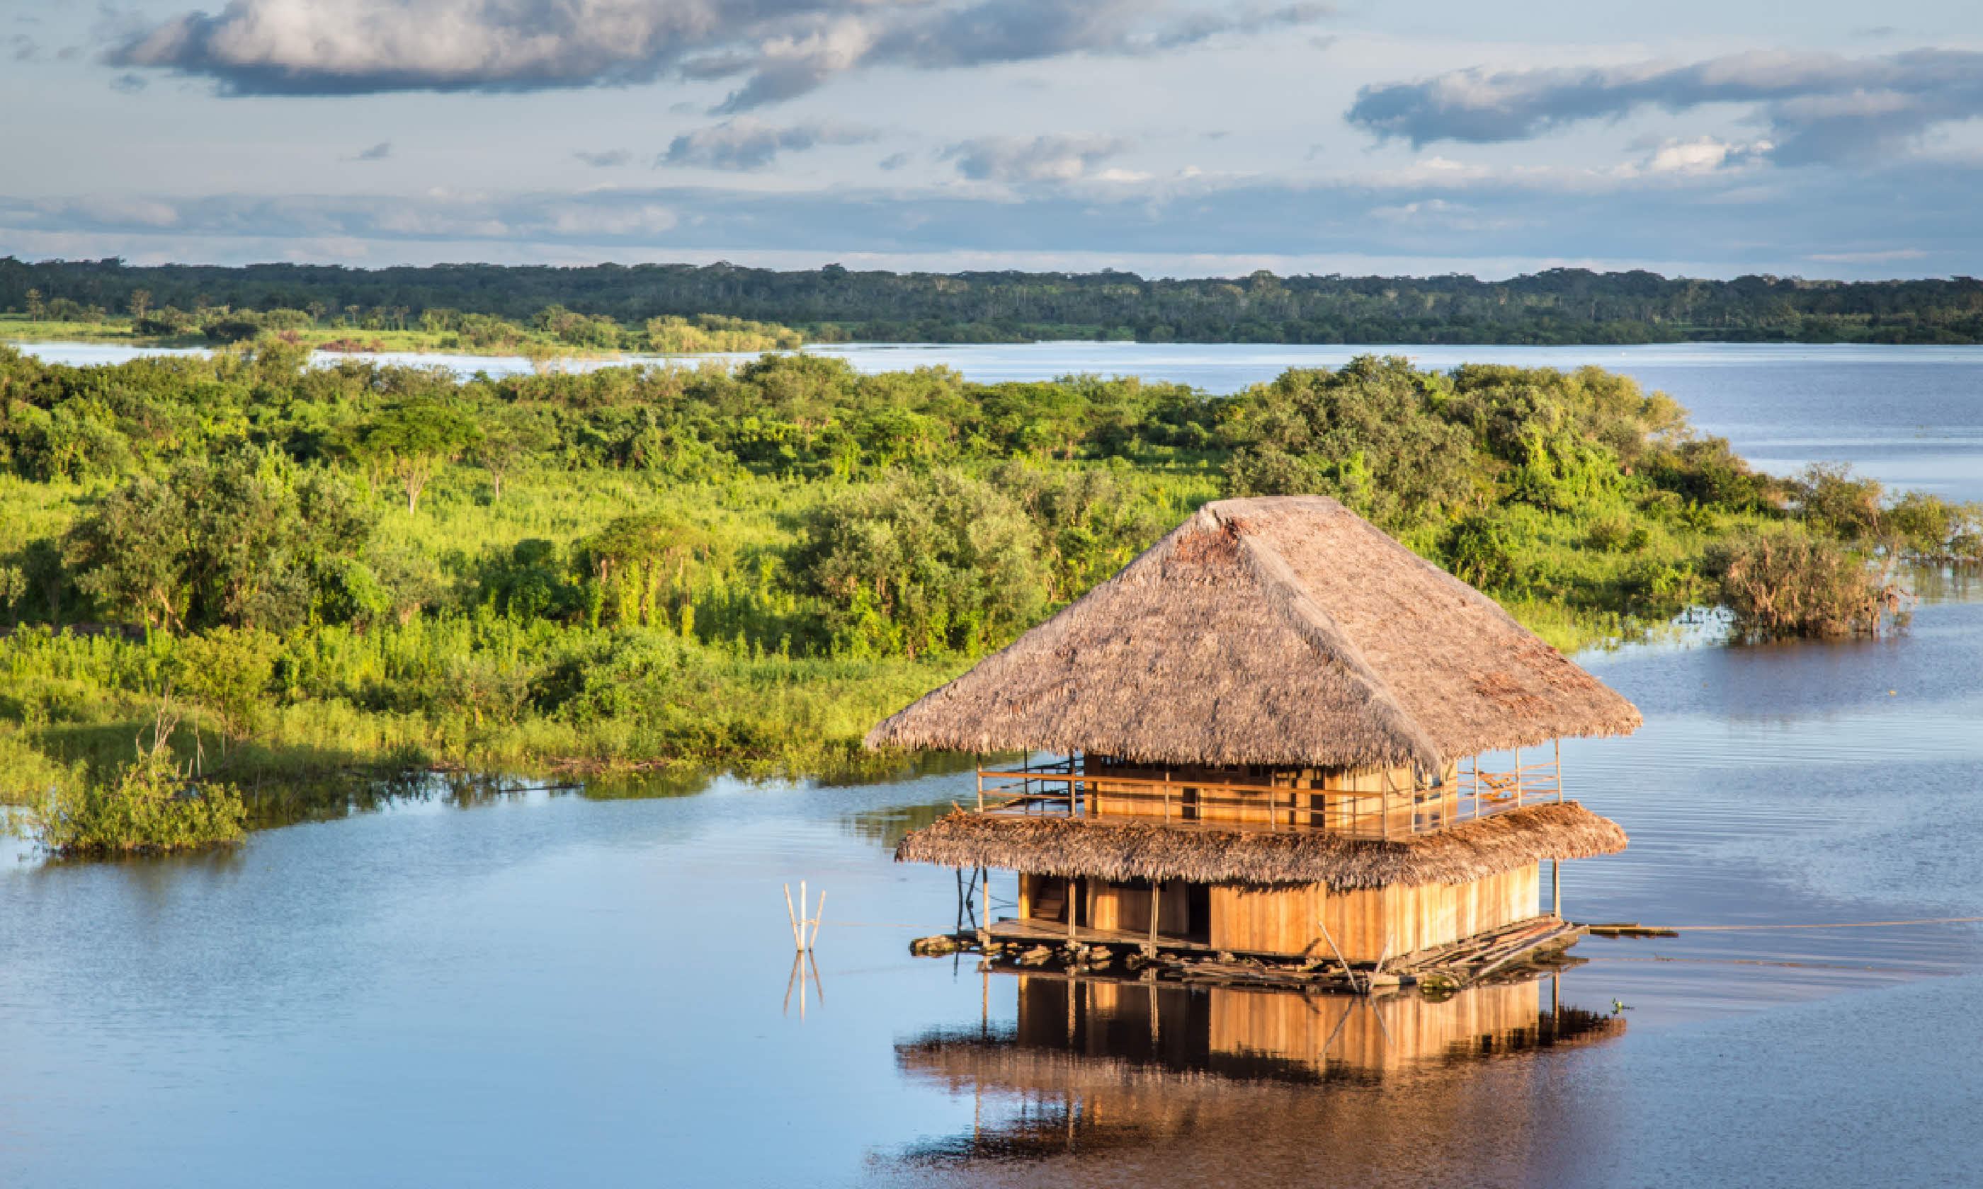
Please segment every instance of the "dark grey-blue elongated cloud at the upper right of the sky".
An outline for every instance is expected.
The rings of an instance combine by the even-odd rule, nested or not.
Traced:
[[[1769,127],[1781,164],[1892,157],[1935,125],[1983,115],[1983,54],[1882,57],[1755,52],[1693,65],[1634,63],[1444,73],[1362,87],[1346,119],[1412,145],[1523,141],[1640,107],[1741,103]]]

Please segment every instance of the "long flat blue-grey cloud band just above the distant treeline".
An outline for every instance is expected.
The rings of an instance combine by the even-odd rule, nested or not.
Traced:
[[[1590,172],[1602,186],[1569,188],[1545,170],[1454,180],[1444,174],[1471,174],[1428,166],[1414,176],[1362,180],[1045,184],[1015,188],[1017,196],[958,184],[900,186],[900,174],[888,174],[888,186],[811,192],[678,184],[583,194],[234,192],[46,202],[0,194],[0,240],[16,254],[230,262],[351,244],[365,246],[375,266],[728,258],[817,268],[845,258],[857,268],[867,254],[890,262],[871,268],[910,260],[962,266],[966,258],[999,268],[993,262],[1003,256],[1031,268],[1170,260],[1166,268],[1208,271],[1239,258],[1283,258],[1301,262],[1295,271],[1323,273],[1582,264],[1691,275],[1983,275],[1983,224],[1975,218],[1983,162],[1910,159],[1882,170],[1812,170],[1775,178],[1769,200],[1743,196],[1757,188],[1747,170],[1654,180]],[[1927,256],[1886,256],[1908,250]],[[1850,260],[1814,264],[1820,256]]]

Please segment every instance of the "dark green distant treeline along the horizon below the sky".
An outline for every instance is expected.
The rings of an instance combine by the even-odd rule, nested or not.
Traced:
[[[30,295],[32,291],[32,295]],[[424,311],[525,321],[547,305],[641,327],[722,315],[884,343],[1979,343],[1983,281],[1731,281],[1559,268],[1507,281],[1444,277],[1144,279],[1136,273],[892,273],[829,264],[773,271],[732,264],[349,270],[133,268],[121,260],[0,258],[0,309],[65,303],[131,313],[325,309],[405,323]]]

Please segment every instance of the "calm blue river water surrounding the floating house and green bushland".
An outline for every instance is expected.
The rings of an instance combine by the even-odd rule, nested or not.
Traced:
[[[1222,390],[1305,351],[851,355]],[[1824,351],[1408,353],[1638,369],[1743,454],[1983,495],[1967,355]],[[1565,866],[1567,914],[1983,916],[1983,591],[1918,587],[1912,630],[1880,642],[1729,648],[1695,626],[1580,656],[1646,725],[1565,745],[1571,795],[1632,836]],[[226,852],[12,856],[0,1185],[1967,1185],[1983,1167],[1975,923],[1584,939],[1588,961],[1529,999],[1446,1007],[1519,1028],[1426,1046],[1414,1028],[1438,1021],[1402,1001],[1323,1003],[1327,1038],[1249,1048],[1220,1040],[1220,1003],[1069,1005],[910,957],[956,886],[892,864],[892,838],[970,787],[436,779]],[[799,880],[827,908],[817,981],[795,985],[781,886]],[[1204,1011],[1210,1032],[1176,1025]]]

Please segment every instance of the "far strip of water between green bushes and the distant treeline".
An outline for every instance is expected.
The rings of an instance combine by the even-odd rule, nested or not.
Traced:
[[[155,349],[48,343],[28,351],[61,363],[117,363]],[[1682,343],[1650,347],[1303,347],[1303,345],[819,345],[861,371],[954,367],[972,380],[1037,380],[1071,373],[1136,375],[1237,392],[1289,367],[1339,367],[1354,355],[1408,355],[1420,367],[1509,363],[1575,369],[1596,365],[1672,394],[1693,424],[1729,438],[1771,474],[1810,462],[1850,462],[1896,487],[1949,499],[1983,499],[1983,349],[1979,347],[1801,347]],[[337,355],[319,355],[335,361]],[[375,355],[383,363],[448,367],[462,375],[520,375],[520,357]],[[704,359],[740,361],[744,355]],[[613,367],[627,357],[575,363]]]

